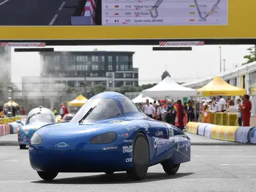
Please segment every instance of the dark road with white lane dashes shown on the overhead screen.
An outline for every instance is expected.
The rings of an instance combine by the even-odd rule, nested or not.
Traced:
[[[0,0],[0,25],[70,25],[79,0]]]

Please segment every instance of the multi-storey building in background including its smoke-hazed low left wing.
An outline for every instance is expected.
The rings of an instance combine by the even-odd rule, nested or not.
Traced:
[[[101,84],[113,91],[124,85],[138,86],[134,52],[80,51],[42,52],[40,77],[22,77],[22,95],[27,110],[37,105],[58,108],[82,94],[92,96]],[[21,101],[19,101],[21,102]]]

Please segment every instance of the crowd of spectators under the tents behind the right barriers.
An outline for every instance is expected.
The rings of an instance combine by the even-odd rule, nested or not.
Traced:
[[[199,122],[201,115],[207,117],[209,112],[237,113],[239,115],[239,126],[247,127],[250,125],[251,101],[249,95],[243,95],[241,99],[224,99],[222,95],[203,98],[200,102],[188,101],[182,104],[181,100],[173,101],[165,99],[149,103],[136,103],[137,107],[152,119],[165,121],[184,129],[184,125],[189,121]]]

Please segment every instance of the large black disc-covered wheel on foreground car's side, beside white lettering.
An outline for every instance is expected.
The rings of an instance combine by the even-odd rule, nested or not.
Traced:
[[[149,166],[149,147],[144,134],[138,133],[134,140],[133,149],[132,162],[134,164],[134,168],[126,172],[130,179],[138,181],[145,177]]]

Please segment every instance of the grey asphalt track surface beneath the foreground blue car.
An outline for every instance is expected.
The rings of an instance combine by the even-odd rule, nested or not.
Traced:
[[[192,143],[203,142],[200,136],[193,136]],[[174,176],[166,175],[161,165],[155,165],[149,168],[146,178],[138,182],[131,181],[122,172],[111,176],[59,173],[54,181],[47,183],[31,169],[27,150],[0,146],[0,191],[253,192],[256,188],[255,149],[252,145],[202,143],[192,146],[191,161],[182,164]]]

